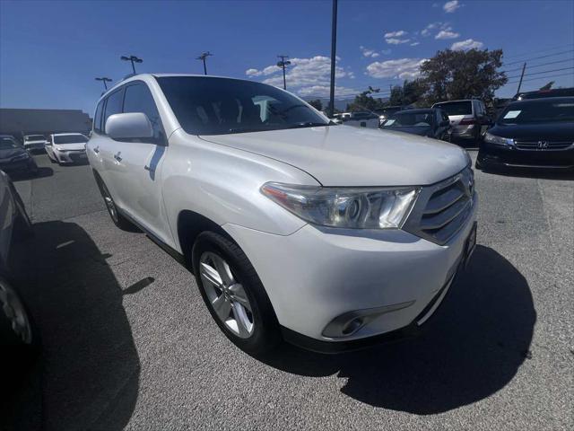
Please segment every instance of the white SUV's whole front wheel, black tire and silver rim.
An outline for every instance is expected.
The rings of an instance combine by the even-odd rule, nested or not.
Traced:
[[[192,262],[197,286],[213,320],[236,346],[252,355],[281,342],[279,323],[248,257],[219,233],[201,233]]]

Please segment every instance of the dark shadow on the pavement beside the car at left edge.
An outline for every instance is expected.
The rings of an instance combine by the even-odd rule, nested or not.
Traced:
[[[22,294],[42,338],[43,428],[121,429],[137,400],[140,362],[109,255],[74,223],[34,231],[37,283]]]

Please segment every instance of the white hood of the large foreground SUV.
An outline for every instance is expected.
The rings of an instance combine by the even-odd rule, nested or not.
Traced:
[[[465,168],[465,151],[426,137],[348,126],[200,136],[289,163],[324,186],[432,184]]]

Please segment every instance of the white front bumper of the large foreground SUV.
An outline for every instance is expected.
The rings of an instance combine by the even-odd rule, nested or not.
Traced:
[[[307,224],[281,236],[236,224],[223,228],[256,268],[286,338],[293,339],[289,334],[296,333],[304,339],[338,344],[390,333],[420,320],[457,273],[477,207],[445,245],[402,230],[342,230]],[[384,307],[394,310],[378,313]],[[369,309],[377,313],[359,330],[348,336],[325,335],[335,318]]]

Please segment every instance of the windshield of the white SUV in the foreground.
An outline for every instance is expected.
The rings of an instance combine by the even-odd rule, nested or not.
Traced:
[[[328,126],[317,112],[271,85],[227,78],[159,77],[179,124],[193,135]]]

